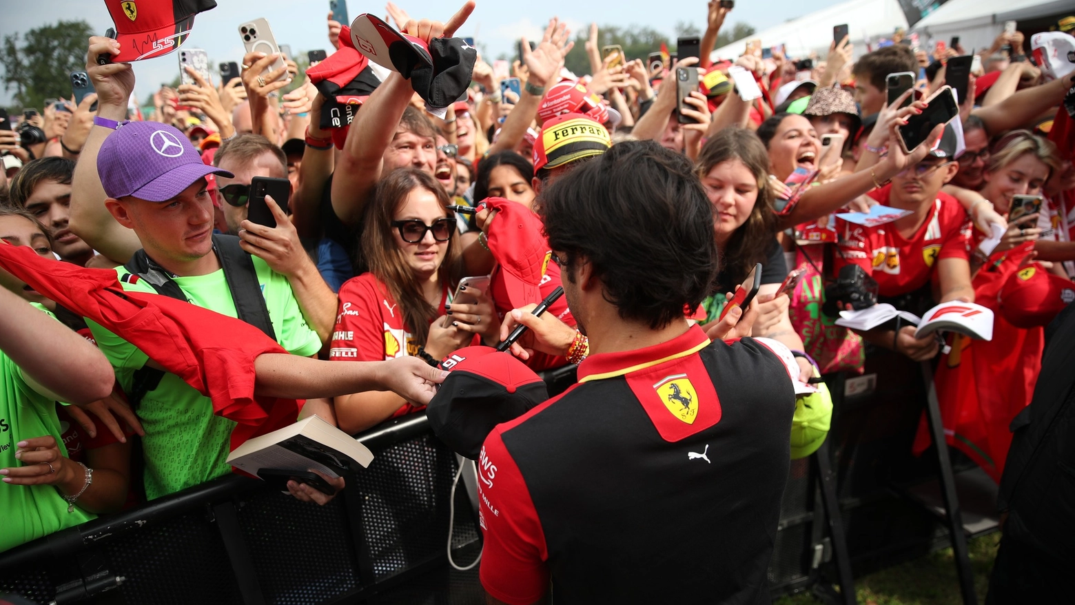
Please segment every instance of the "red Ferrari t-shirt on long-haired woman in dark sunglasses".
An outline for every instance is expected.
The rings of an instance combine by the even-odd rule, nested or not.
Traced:
[[[444,315],[448,290],[444,290],[438,317]],[[403,313],[388,287],[371,273],[344,282],[340,287],[336,323],[329,359],[334,361],[385,361],[417,356],[418,343],[403,325]],[[392,414],[403,416],[420,406],[406,403]]]

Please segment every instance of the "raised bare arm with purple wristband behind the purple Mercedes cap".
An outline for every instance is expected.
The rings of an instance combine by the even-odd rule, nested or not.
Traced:
[[[119,43],[103,37],[89,39],[86,73],[97,90],[97,115],[114,121],[127,119],[127,100],[134,89],[134,72],[130,63],[97,64],[97,56],[101,54],[118,55]],[[71,183],[70,227],[95,250],[117,263],[125,263],[142,247],[142,243],[133,231],[116,222],[104,207],[108,196],[97,173],[97,154],[111,132],[103,126],[94,126],[86,138]]]

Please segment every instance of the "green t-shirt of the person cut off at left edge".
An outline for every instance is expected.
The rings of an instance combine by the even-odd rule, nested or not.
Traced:
[[[33,306],[48,313],[45,307]],[[56,402],[31,389],[23,371],[0,351],[0,469],[22,466],[15,445],[31,437],[52,435],[67,456],[56,418]],[[53,486],[14,486],[0,482],[0,551],[95,518],[68,503]]]

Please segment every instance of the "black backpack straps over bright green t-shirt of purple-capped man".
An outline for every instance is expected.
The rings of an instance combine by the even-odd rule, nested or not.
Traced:
[[[243,250],[239,245],[239,237],[234,235],[214,234],[213,249],[220,261],[220,267],[224,268],[224,278],[228,282],[228,290],[231,291],[231,300],[235,303],[239,318],[275,341],[276,331],[273,330],[269,307],[266,306],[261,284],[258,282],[258,273],[250,255]],[[158,294],[187,301],[186,294],[172,279],[171,274],[149,258],[145,250],[134,253],[124,268],[153,286]],[[135,370],[131,380],[131,392],[127,393],[131,406],[137,407],[146,393],[160,385],[160,379],[163,377],[163,372],[148,365]]]

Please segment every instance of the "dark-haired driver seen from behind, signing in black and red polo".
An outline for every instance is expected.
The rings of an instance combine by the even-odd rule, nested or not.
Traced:
[[[693,167],[620,143],[539,208],[590,355],[485,441],[487,602],[768,603],[794,391],[766,345],[711,342],[684,317],[718,267]],[[524,322],[526,347],[563,355],[575,332],[551,315],[513,312],[502,333]]]

